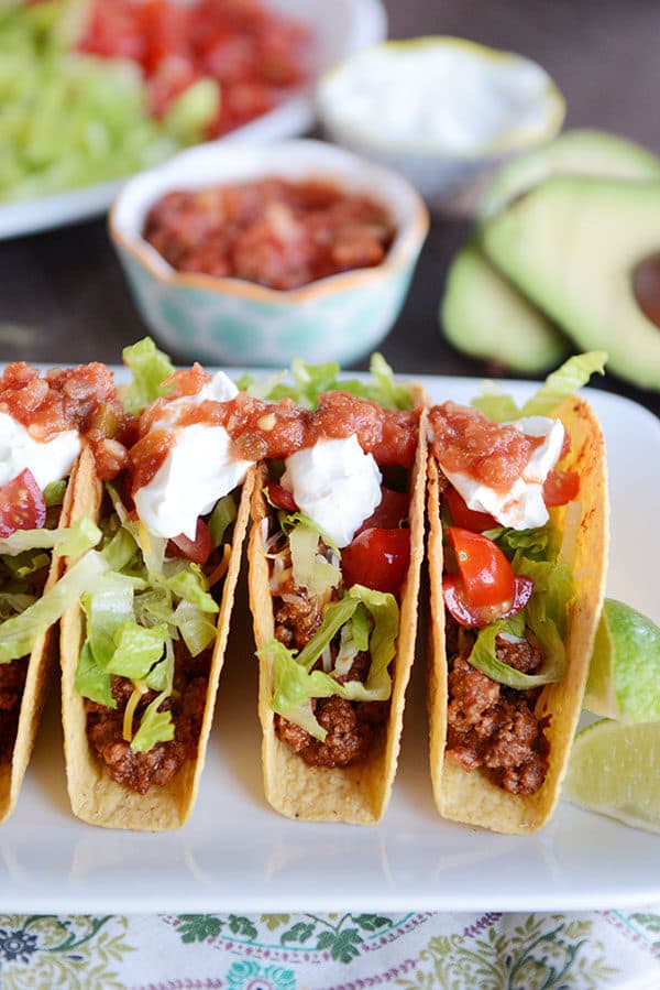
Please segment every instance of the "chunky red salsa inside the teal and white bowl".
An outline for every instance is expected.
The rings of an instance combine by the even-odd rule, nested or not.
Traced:
[[[387,211],[370,196],[320,179],[280,178],[168,193],[144,228],[177,271],[283,291],[380,264],[394,235]]]

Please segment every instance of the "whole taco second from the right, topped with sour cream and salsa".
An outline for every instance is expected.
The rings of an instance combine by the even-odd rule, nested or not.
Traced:
[[[336,366],[295,370],[298,388],[264,406],[249,543],[265,794],[292,818],[371,824],[415,650],[424,393],[378,357],[366,385]]]

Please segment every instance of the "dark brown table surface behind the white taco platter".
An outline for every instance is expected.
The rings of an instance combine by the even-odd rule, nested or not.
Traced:
[[[660,3],[388,0],[386,6],[392,37],[454,34],[529,55],[563,90],[568,127],[616,131],[660,153]],[[447,268],[468,230],[463,222],[433,220],[408,301],[382,348],[396,370],[497,373],[458,355],[438,330]],[[117,362],[121,348],[145,333],[105,220],[0,243],[0,360]],[[601,387],[660,415],[658,393],[609,377]]]

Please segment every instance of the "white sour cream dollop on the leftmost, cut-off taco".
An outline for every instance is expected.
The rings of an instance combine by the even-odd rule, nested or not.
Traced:
[[[22,423],[0,413],[0,485],[29,468],[41,489],[70,475],[80,453],[77,429],[63,429],[50,440],[35,440]]]

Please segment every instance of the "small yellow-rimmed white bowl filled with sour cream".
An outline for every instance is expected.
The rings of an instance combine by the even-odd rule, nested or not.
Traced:
[[[540,65],[457,37],[358,52],[322,77],[317,107],[338,144],[403,173],[431,207],[463,214],[504,159],[554,137],[565,113]]]

